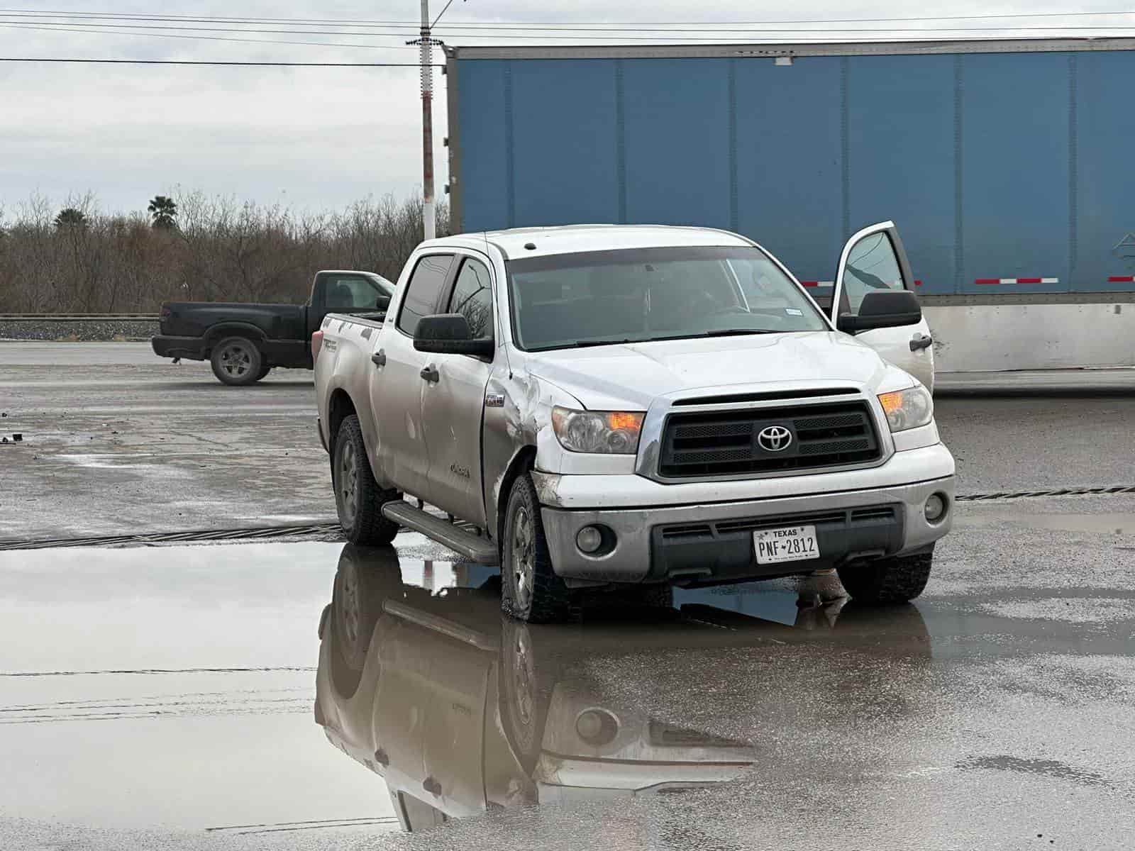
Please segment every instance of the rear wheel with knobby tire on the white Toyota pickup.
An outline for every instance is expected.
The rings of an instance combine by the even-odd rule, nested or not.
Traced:
[[[398,524],[382,516],[382,503],[398,499],[398,491],[384,490],[375,481],[355,414],[344,418],[335,437],[331,487],[339,525],[348,541],[377,546],[394,540]]]

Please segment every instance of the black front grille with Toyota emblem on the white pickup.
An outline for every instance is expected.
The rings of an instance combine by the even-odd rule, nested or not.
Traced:
[[[774,452],[758,436],[787,429]],[[792,405],[748,411],[678,413],[666,420],[658,473],[664,478],[743,475],[813,470],[875,461],[882,454],[867,403]]]

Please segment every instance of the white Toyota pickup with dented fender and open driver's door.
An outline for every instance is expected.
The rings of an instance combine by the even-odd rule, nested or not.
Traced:
[[[499,564],[505,610],[532,622],[586,589],[829,567],[854,598],[917,597],[955,465],[911,284],[891,222],[848,242],[829,304],[721,230],[422,243],[385,320],[312,337],[343,530]]]

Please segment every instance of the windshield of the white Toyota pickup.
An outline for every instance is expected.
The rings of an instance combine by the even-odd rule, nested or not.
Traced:
[[[755,247],[631,248],[508,263],[527,351],[825,330],[812,300]]]

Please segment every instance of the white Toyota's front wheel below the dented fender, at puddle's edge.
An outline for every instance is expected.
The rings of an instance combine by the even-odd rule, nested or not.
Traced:
[[[579,610],[578,596],[552,568],[540,503],[529,474],[519,475],[513,482],[504,516],[501,608],[528,623],[573,620]]]

